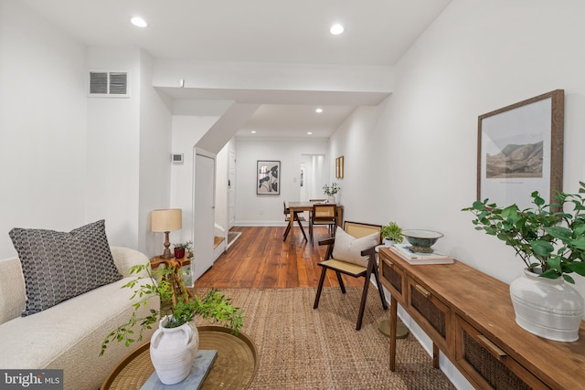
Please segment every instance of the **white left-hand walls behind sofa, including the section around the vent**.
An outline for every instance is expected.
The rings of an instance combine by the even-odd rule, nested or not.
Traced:
[[[88,98],[90,69],[129,71],[130,98]],[[112,245],[154,255],[150,210],[169,204],[160,188],[170,184],[170,111],[152,73],[138,48],[84,47],[22,2],[0,0],[0,166],[10,188],[0,192],[0,258],[16,254],[12,227],[70,230],[101,218]]]

